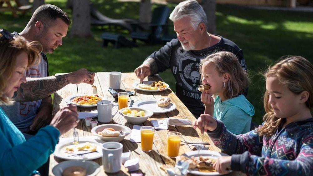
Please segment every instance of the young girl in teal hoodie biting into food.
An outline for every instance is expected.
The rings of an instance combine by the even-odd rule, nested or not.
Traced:
[[[249,80],[237,57],[226,51],[211,54],[201,60],[199,71],[202,83],[210,85],[201,95],[204,113],[221,120],[234,134],[249,132],[254,107],[242,95]]]

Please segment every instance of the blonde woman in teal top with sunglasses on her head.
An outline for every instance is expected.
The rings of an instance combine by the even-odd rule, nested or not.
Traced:
[[[0,104],[11,104],[14,92],[26,82],[25,70],[39,62],[42,46],[0,31]],[[76,106],[59,110],[50,125],[25,141],[0,107],[0,175],[30,175],[53,153],[59,136],[78,123]],[[35,174],[36,172],[33,172]]]

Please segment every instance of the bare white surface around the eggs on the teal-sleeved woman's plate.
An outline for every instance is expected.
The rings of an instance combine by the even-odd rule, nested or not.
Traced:
[[[66,151],[65,147],[66,146],[74,145],[74,144],[72,144],[73,138],[63,138],[63,139],[61,138],[59,143],[55,146],[55,150],[53,153],[54,156],[61,158],[61,159],[67,159],[67,160],[77,160],[77,159],[91,160],[91,159],[96,159],[96,158],[102,157],[101,143],[98,143],[100,140],[96,141],[95,138],[92,136],[91,137],[80,137],[79,139],[80,139],[79,144],[83,144],[85,142],[90,142],[90,143],[97,145],[97,152],[88,153],[85,155],[70,156],[70,155],[79,154],[79,153],[86,153],[86,152],[90,152],[90,151],[87,151],[87,150],[81,150],[81,151],[76,150],[75,151],[74,150],[74,153],[65,153],[65,151]]]

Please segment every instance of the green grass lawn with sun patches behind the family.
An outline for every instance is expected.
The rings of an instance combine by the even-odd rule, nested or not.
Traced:
[[[66,0],[46,0],[65,9]],[[116,0],[92,0],[95,7],[111,18],[139,18],[139,3],[119,2]],[[173,9],[176,4],[169,3]],[[157,7],[153,4],[152,8]],[[69,9],[66,12],[71,14]],[[21,32],[27,24],[30,13],[13,18],[9,12],[0,13],[0,28]],[[248,100],[254,105],[254,123],[261,124],[264,114],[263,93],[264,78],[260,73],[284,55],[300,55],[313,62],[313,13],[267,11],[236,6],[217,5],[216,23],[218,34],[231,39],[244,52],[249,68],[251,84]],[[169,22],[172,30],[172,23]],[[69,29],[70,30],[70,29]],[[116,28],[92,27],[93,38],[80,39],[66,37],[63,45],[53,54],[48,54],[49,73],[71,72],[87,68],[93,72],[121,71],[133,72],[142,61],[162,45],[147,46],[144,43],[137,48],[115,49],[113,45],[102,47],[102,32],[127,31]],[[171,31],[174,33],[173,31]],[[170,70],[160,74],[175,89],[175,80]]]

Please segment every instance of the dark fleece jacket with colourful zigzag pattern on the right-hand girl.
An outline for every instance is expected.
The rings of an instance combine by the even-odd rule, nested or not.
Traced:
[[[256,130],[234,135],[218,121],[218,127],[208,135],[218,148],[232,155],[233,171],[247,175],[313,175],[313,118],[278,128],[271,137],[260,137]]]

